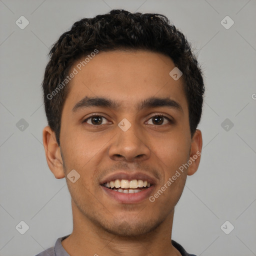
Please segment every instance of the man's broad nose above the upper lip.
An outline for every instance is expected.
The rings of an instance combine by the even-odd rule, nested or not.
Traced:
[[[116,126],[116,136],[108,149],[109,157],[127,162],[146,160],[150,157],[148,142],[143,131],[135,124],[131,124],[126,131]]]

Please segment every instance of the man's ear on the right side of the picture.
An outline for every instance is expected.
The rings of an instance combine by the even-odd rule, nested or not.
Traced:
[[[200,162],[201,150],[202,150],[202,133],[200,130],[196,129],[191,141],[189,160],[192,163],[189,164],[189,167],[187,168],[187,175],[192,175],[197,170]]]

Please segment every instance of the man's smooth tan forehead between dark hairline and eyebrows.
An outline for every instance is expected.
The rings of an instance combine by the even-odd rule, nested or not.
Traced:
[[[93,54],[94,55],[94,54]],[[149,97],[170,97],[186,107],[182,77],[174,80],[169,72],[172,60],[150,51],[99,52],[71,67],[76,74],[69,81],[65,105],[73,108],[85,96],[107,97],[129,109]],[[65,106],[64,106],[65,107]]]

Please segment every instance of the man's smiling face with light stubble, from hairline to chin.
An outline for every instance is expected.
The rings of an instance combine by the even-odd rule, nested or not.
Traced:
[[[199,156],[179,168],[200,151],[201,139],[198,131],[191,138],[182,76],[174,80],[173,68],[169,57],[139,50],[99,52],[77,69],[61,116],[63,165],[51,166],[58,178],[73,169],[80,175],[74,183],[66,179],[73,214],[134,236],[173,213]]]

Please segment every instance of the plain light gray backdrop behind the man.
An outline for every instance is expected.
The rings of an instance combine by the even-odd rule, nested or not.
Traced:
[[[165,14],[204,71],[202,157],[176,206],[172,238],[197,255],[256,255],[255,0],[0,0],[0,255],[35,255],[72,230],[65,179],[45,160],[40,84],[60,34],[113,8]],[[15,24],[21,15],[24,29]],[[226,15],[229,29],[220,23]],[[24,234],[15,229],[21,220]],[[229,234],[220,228],[226,220]]]

